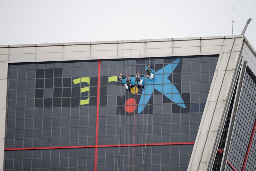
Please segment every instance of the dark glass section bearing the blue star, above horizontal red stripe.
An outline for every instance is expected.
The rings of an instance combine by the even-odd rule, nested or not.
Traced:
[[[194,142],[217,60],[101,61],[98,143]],[[154,73],[152,80],[146,77],[148,66]],[[137,72],[143,80],[141,86],[135,85]],[[120,73],[123,83],[127,75],[132,80],[128,90],[117,81]]]

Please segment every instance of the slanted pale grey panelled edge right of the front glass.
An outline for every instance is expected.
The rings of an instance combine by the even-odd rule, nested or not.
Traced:
[[[221,48],[188,170],[211,170],[241,65],[240,50],[243,40],[244,38],[233,38],[230,45],[223,45]],[[240,44],[235,45],[235,42]]]

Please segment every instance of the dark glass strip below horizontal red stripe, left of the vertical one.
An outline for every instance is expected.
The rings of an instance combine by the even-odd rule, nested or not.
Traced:
[[[94,148],[5,152],[5,170],[94,170]]]

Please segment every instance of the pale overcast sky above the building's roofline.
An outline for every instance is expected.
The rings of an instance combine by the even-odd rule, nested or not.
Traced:
[[[240,35],[256,0],[0,0],[0,45]]]

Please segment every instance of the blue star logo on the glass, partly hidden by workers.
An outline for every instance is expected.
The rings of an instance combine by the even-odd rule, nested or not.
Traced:
[[[182,108],[186,108],[184,101],[180,96],[180,92],[168,79],[170,73],[172,73],[172,71],[178,65],[179,61],[180,59],[176,59],[171,64],[164,66],[158,71],[154,71],[152,68],[150,68],[151,73],[154,74],[153,79],[141,77],[143,80],[142,85],[145,85],[145,87],[142,91],[142,95],[140,96],[140,102],[138,104],[138,113],[141,113],[144,110],[146,104],[148,104],[148,101],[153,94],[154,89],[164,94],[165,97],[172,100],[172,102],[177,103],[177,105],[181,106]],[[147,69],[147,66],[145,66],[145,69]],[[132,85],[134,85],[135,77],[130,77],[130,79],[132,81]],[[126,78],[123,79],[124,83],[125,81]]]

